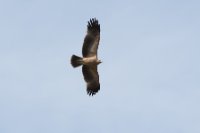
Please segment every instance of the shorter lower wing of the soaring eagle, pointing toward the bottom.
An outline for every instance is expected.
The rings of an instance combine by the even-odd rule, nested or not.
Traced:
[[[100,90],[99,75],[97,72],[97,65],[82,67],[83,76],[87,83],[88,95],[94,95]]]

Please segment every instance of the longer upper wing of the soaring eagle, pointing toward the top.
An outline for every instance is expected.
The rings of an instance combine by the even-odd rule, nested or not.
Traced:
[[[82,48],[83,57],[97,55],[97,49],[100,40],[100,24],[93,18],[88,21],[87,35],[85,36]]]

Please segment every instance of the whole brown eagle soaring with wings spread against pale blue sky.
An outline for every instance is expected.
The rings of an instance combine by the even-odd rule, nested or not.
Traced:
[[[102,63],[98,59],[97,49],[100,41],[100,24],[96,18],[88,21],[87,34],[83,41],[82,55],[71,56],[71,65],[76,68],[82,66],[82,73],[87,84],[87,94],[95,95],[100,90],[97,66]]]

